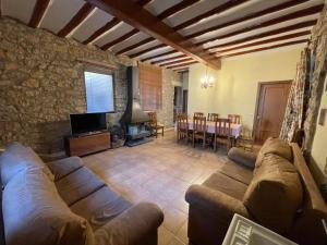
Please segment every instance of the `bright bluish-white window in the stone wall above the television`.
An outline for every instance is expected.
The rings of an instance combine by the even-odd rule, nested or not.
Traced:
[[[87,112],[113,112],[112,74],[84,72]]]

